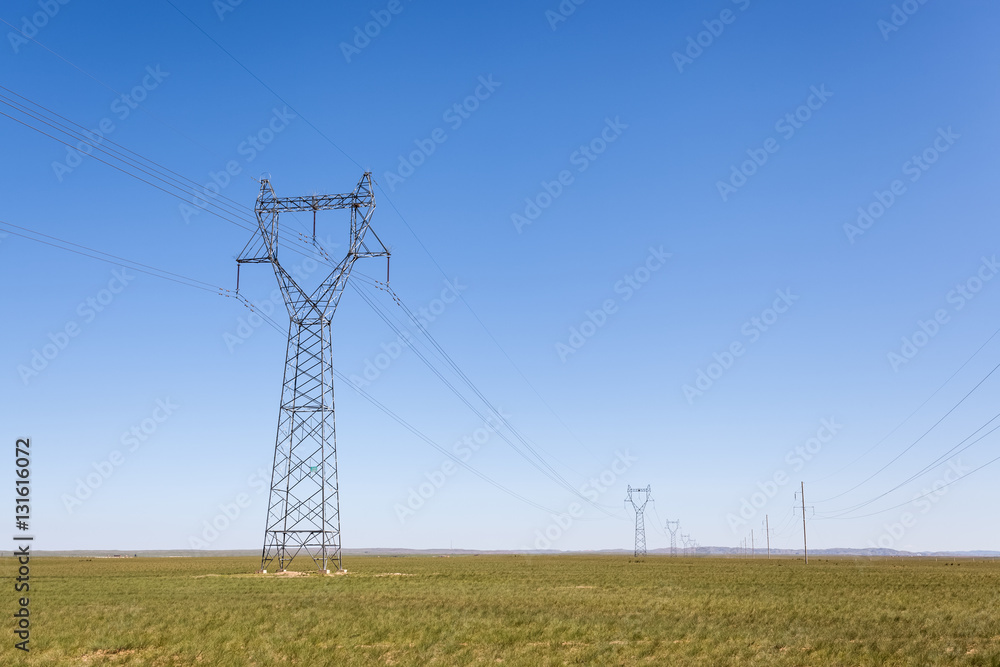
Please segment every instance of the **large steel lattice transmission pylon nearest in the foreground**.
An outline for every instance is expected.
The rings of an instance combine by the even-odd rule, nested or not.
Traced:
[[[350,211],[347,255],[318,286],[309,289],[301,284],[300,281],[304,282],[301,277],[293,277],[278,261],[278,215],[312,211],[315,243],[316,212],[334,209]],[[261,552],[263,571],[275,559],[279,570],[287,569],[302,551],[321,572],[328,572],[331,564],[342,569],[330,321],[354,262],[362,257],[389,257],[389,251],[370,228],[374,210],[375,197],[368,172],[353,192],[339,195],[279,198],[270,182],[262,179],[255,207],[258,230],[236,260],[237,266],[271,265],[289,318]],[[366,242],[369,232],[377,245]]]

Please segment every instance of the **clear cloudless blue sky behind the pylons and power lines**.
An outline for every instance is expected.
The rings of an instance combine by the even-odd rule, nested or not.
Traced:
[[[6,3],[0,18],[44,24],[35,39],[62,59],[3,25],[0,83],[87,127],[107,119],[110,139],[199,183],[235,161],[223,194],[247,206],[263,173],[295,195],[346,192],[371,170],[400,297],[431,307],[445,287],[438,266],[457,280],[472,310],[448,305],[432,334],[574,486],[611,482],[596,493],[610,516],[588,508],[550,529],[562,533],[552,548],[629,548],[629,484],[652,486],[650,547],[667,546],[667,518],[703,545],[736,545],[751,528],[759,540],[765,514],[772,545],[797,547],[800,481],[816,511],[810,546],[1000,548],[981,519],[1000,501],[1000,467],[910,502],[961,474],[948,472],[951,457],[854,514],[902,507],[824,518],[892,489],[994,415],[991,376],[917,441],[1000,362],[992,339],[963,366],[1000,325],[1000,280],[976,282],[1000,254],[994,3],[897,3],[916,11],[894,17],[888,1],[592,1],[559,20],[546,14],[555,0],[176,2],[299,115],[160,1],[75,0],[45,20],[38,2]],[[372,12],[387,25],[355,44]],[[100,82],[145,85],[144,99],[123,106]],[[272,122],[273,141],[248,147]],[[90,158],[54,167],[66,148],[8,118],[0,132],[0,219],[235,286],[243,230],[205,212],[185,222],[177,199]],[[401,156],[428,142],[422,164],[400,172]],[[859,207],[875,215],[845,229]],[[261,327],[227,345],[249,314],[236,301],[134,273],[91,317],[87,300],[113,266],[13,235],[0,258],[2,432],[33,438],[37,547],[186,548],[246,494],[208,544],[258,548],[266,494],[254,475],[269,474],[284,335]],[[384,265],[358,269],[380,277]],[[244,280],[267,300],[266,267]],[[981,289],[968,299],[958,285]],[[602,326],[582,326],[588,312]],[[935,335],[894,367],[889,353],[902,356],[919,321]],[[25,382],[19,367],[67,324],[79,334]],[[351,290],[334,331],[346,375],[395,338]],[[699,372],[715,379],[699,388]],[[368,391],[447,448],[483,426],[412,350]],[[397,505],[444,457],[349,387],[337,397],[346,548],[522,548],[554,523],[468,470],[401,522]],[[166,419],[138,446],[122,442],[154,416]],[[826,442],[799,461],[817,433]],[[987,436],[952,469],[988,462],[997,442]],[[78,480],[115,451],[113,474],[68,511]],[[624,474],[616,452],[628,452]],[[469,464],[545,507],[574,501],[496,434]],[[773,497],[731,525],[759,488]]]

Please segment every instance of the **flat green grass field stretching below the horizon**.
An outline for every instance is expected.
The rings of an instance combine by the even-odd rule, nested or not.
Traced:
[[[462,556],[32,560],[4,665],[1000,665],[1000,562]],[[3,576],[14,576],[3,559]]]

